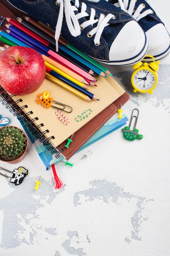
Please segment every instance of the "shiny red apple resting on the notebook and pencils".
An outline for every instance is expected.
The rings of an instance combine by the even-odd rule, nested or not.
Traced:
[[[35,49],[10,46],[0,53],[0,85],[14,95],[38,90],[45,78],[44,60]]]

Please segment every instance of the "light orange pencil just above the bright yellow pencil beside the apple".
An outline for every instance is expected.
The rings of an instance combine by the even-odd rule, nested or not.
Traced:
[[[63,71],[64,73],[69,74],[71,77],[73,77],[77,81],[82,82],[82,83],[87,83],[86,80],[82,76],[79,76],[78,74],[76,74],[72,70],[69,70],[68,68],[64,67],[60,63],[57,63],[56,61],[54,61],[51,58],[45,56],[44,54],[42,54],[42,58],[47,63],[53,65],[54,67],[58,68],[59,70]]]

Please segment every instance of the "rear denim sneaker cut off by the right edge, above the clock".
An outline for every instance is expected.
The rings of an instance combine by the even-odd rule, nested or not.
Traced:
[[[170,35],[165,25],[157,16],[155,11],[145,0],[109,0],[114,6],[130,14],[144,29],[148,39],[148,52],[160,61],[170,53]],[[152,58],[144,58],[145,61],[152,61]]]

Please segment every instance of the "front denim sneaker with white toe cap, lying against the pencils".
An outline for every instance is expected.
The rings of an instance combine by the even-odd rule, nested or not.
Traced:
[[[110,65],[132,65],[144,58],[144,30],[127,12],[105,0],[7,0],[13,7],[48,24],[56,42],[62,36],[91,58]],[[57,24],[57,25],[56,25]]]

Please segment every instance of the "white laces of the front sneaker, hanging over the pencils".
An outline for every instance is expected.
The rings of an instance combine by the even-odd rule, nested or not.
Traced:
[[[91,2],[99,2],[99,0],[91,0]],[[94,37],[95,45],[99,45],[100,37],[102,35],[103,29],[104,27],[109,25],[108,21],[112,18],[115,18],[115,16],[111,13],[109,13],[107,16],[101,13],[99,19],[95,19],[95,9],[91,8],[91,14],[90,14],[89,20],[83,22],[81,24],[81,29],[80,29],[78,20],[80,18],[89,16],[89,14],[86,12],[86,8],[87,8],[86,4],[82,2],[81,12],[77,14],[75,14],[74,11],[78,11],[79,0],[75,0],[75,5],[71,5],[70,0],[57,0],[57,4],[60,4],[60,12],[59,12],[57,25],[55,29],[56,51],[58,51],[58,39],[60,37],[60,33],[62,29],[63,13],[65,13],[66,23],[72,36],[79,36],[81,34],[81,29],[84,29],[89,25],[93,26],[93,24],[98,22],[97,26],[88,32],[89,37],[92,37],[95,34],[95,37]]]

